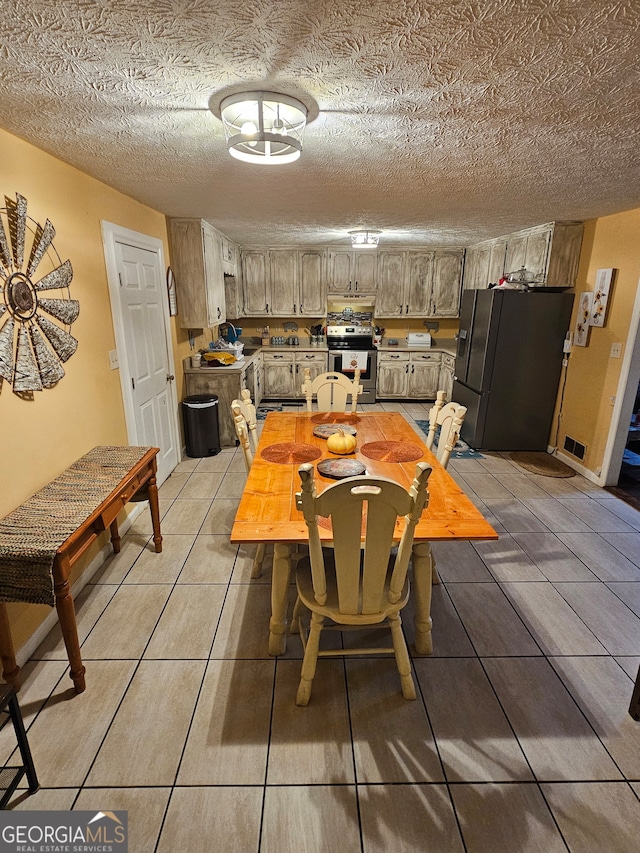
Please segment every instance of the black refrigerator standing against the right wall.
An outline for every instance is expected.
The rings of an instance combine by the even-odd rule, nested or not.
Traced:
[[[465,290],[452,399],[477,450],[546,450],[573,294]]]

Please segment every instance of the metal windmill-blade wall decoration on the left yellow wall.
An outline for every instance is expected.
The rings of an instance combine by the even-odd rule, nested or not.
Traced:
[[[5,196],[0,208],[0,385],[14,393],[52,388],[78,347],[70,334],[80,313],[69,298],[70,261],[61,261],[55,228],[27,216],[27,200]],[[48,315],[48,316],[47,316]],[[50,319],[53,318],[53,319]],[[58,321],[58,322],[54,322]]]

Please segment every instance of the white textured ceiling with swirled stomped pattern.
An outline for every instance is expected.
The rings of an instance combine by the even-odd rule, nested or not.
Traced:
[[[638,0],[3,0],[0,125],[242,245],[468,245],[640,206],[639,49]],[[245,88],[299,161],[228,155]]]

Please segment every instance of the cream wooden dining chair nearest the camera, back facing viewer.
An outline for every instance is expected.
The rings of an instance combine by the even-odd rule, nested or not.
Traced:
[[[429,502],[431,467],[426,462],[416,465],[408,491],[385,477],[365,476],[348,477],[320,495],[316,493],[313,465],[301,465],[298,472],[302,491],[296,494],[296,506],[309,531],[309,556],[296,567],[298,597],[293,622],[298,624],[304,650],[296,704],[307,705],[311,698],[318,657],[383,653],[395,655],[402,695],[415,699],[400,611],[409,599],[407,569],[414,529]],[[331,549],[322,548],[318,516],[331,519]],[[404,516],[404,529],[396,550],[393,533],[399,516]],[[305,618],[309,613],[307,629]],[[327,619],[328,629],[340,631],[388,627],[392,645],[323,651],[320,635]]]

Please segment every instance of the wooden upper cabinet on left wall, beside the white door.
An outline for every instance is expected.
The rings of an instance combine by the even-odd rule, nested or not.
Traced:
[[[169,239],[180,328],[224,323],[222,235],[201,219],[169,219]]]

